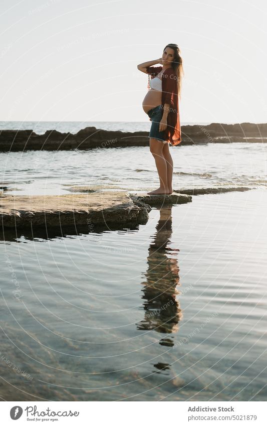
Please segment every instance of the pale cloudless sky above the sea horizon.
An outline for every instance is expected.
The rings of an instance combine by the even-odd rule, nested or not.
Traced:
[[[147,121],[137,64],[176,43],[183,122],[267,122],[263,0],[2,0],[0,121]]]

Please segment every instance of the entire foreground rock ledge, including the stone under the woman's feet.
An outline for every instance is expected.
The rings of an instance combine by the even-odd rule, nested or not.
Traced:
[[[67,195],[19,196],[0,193],[3,228],[29,228],[45,226],[94,226],[125,223],[145,224],[152,206],[190,203],[192,195],[246,191],[246,187],[198,188],[174,191],[170,195],[148,195],[125,191],[90,192],[82,187],[82,193]]]

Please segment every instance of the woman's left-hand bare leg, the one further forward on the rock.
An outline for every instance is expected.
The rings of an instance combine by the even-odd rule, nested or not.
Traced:
[[[163,144],[157,139],[154,139],[153,137],[149,138],[149,147],[150,152],[152,156],[154,157],[158,176],[159,176],[159,183],[160,186],[155,191],[148,192],[149,195],[151,194],[169,194],[169,188],[167,184],[167,164],[166,160],[163,156],[163,146],[167,144]]]

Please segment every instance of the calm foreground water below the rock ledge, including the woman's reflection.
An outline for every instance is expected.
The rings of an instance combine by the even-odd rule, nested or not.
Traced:
[[[133,229],[2,233],[2,398],[266,400],[266,207],[256,189]]]

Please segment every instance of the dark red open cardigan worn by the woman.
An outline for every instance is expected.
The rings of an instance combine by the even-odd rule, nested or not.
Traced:
[[[162,71],[162,67],[146,67],[146,71],[149,75],[155,77],[160,71]],[[162,74],[161,103],[163,107],[165,103],[170,105],[164,136],[165,140],[167,140],[171,145],[178,145],[181,143],[177,78],[178,77],[175,75],[172,67],[167,68]]]

